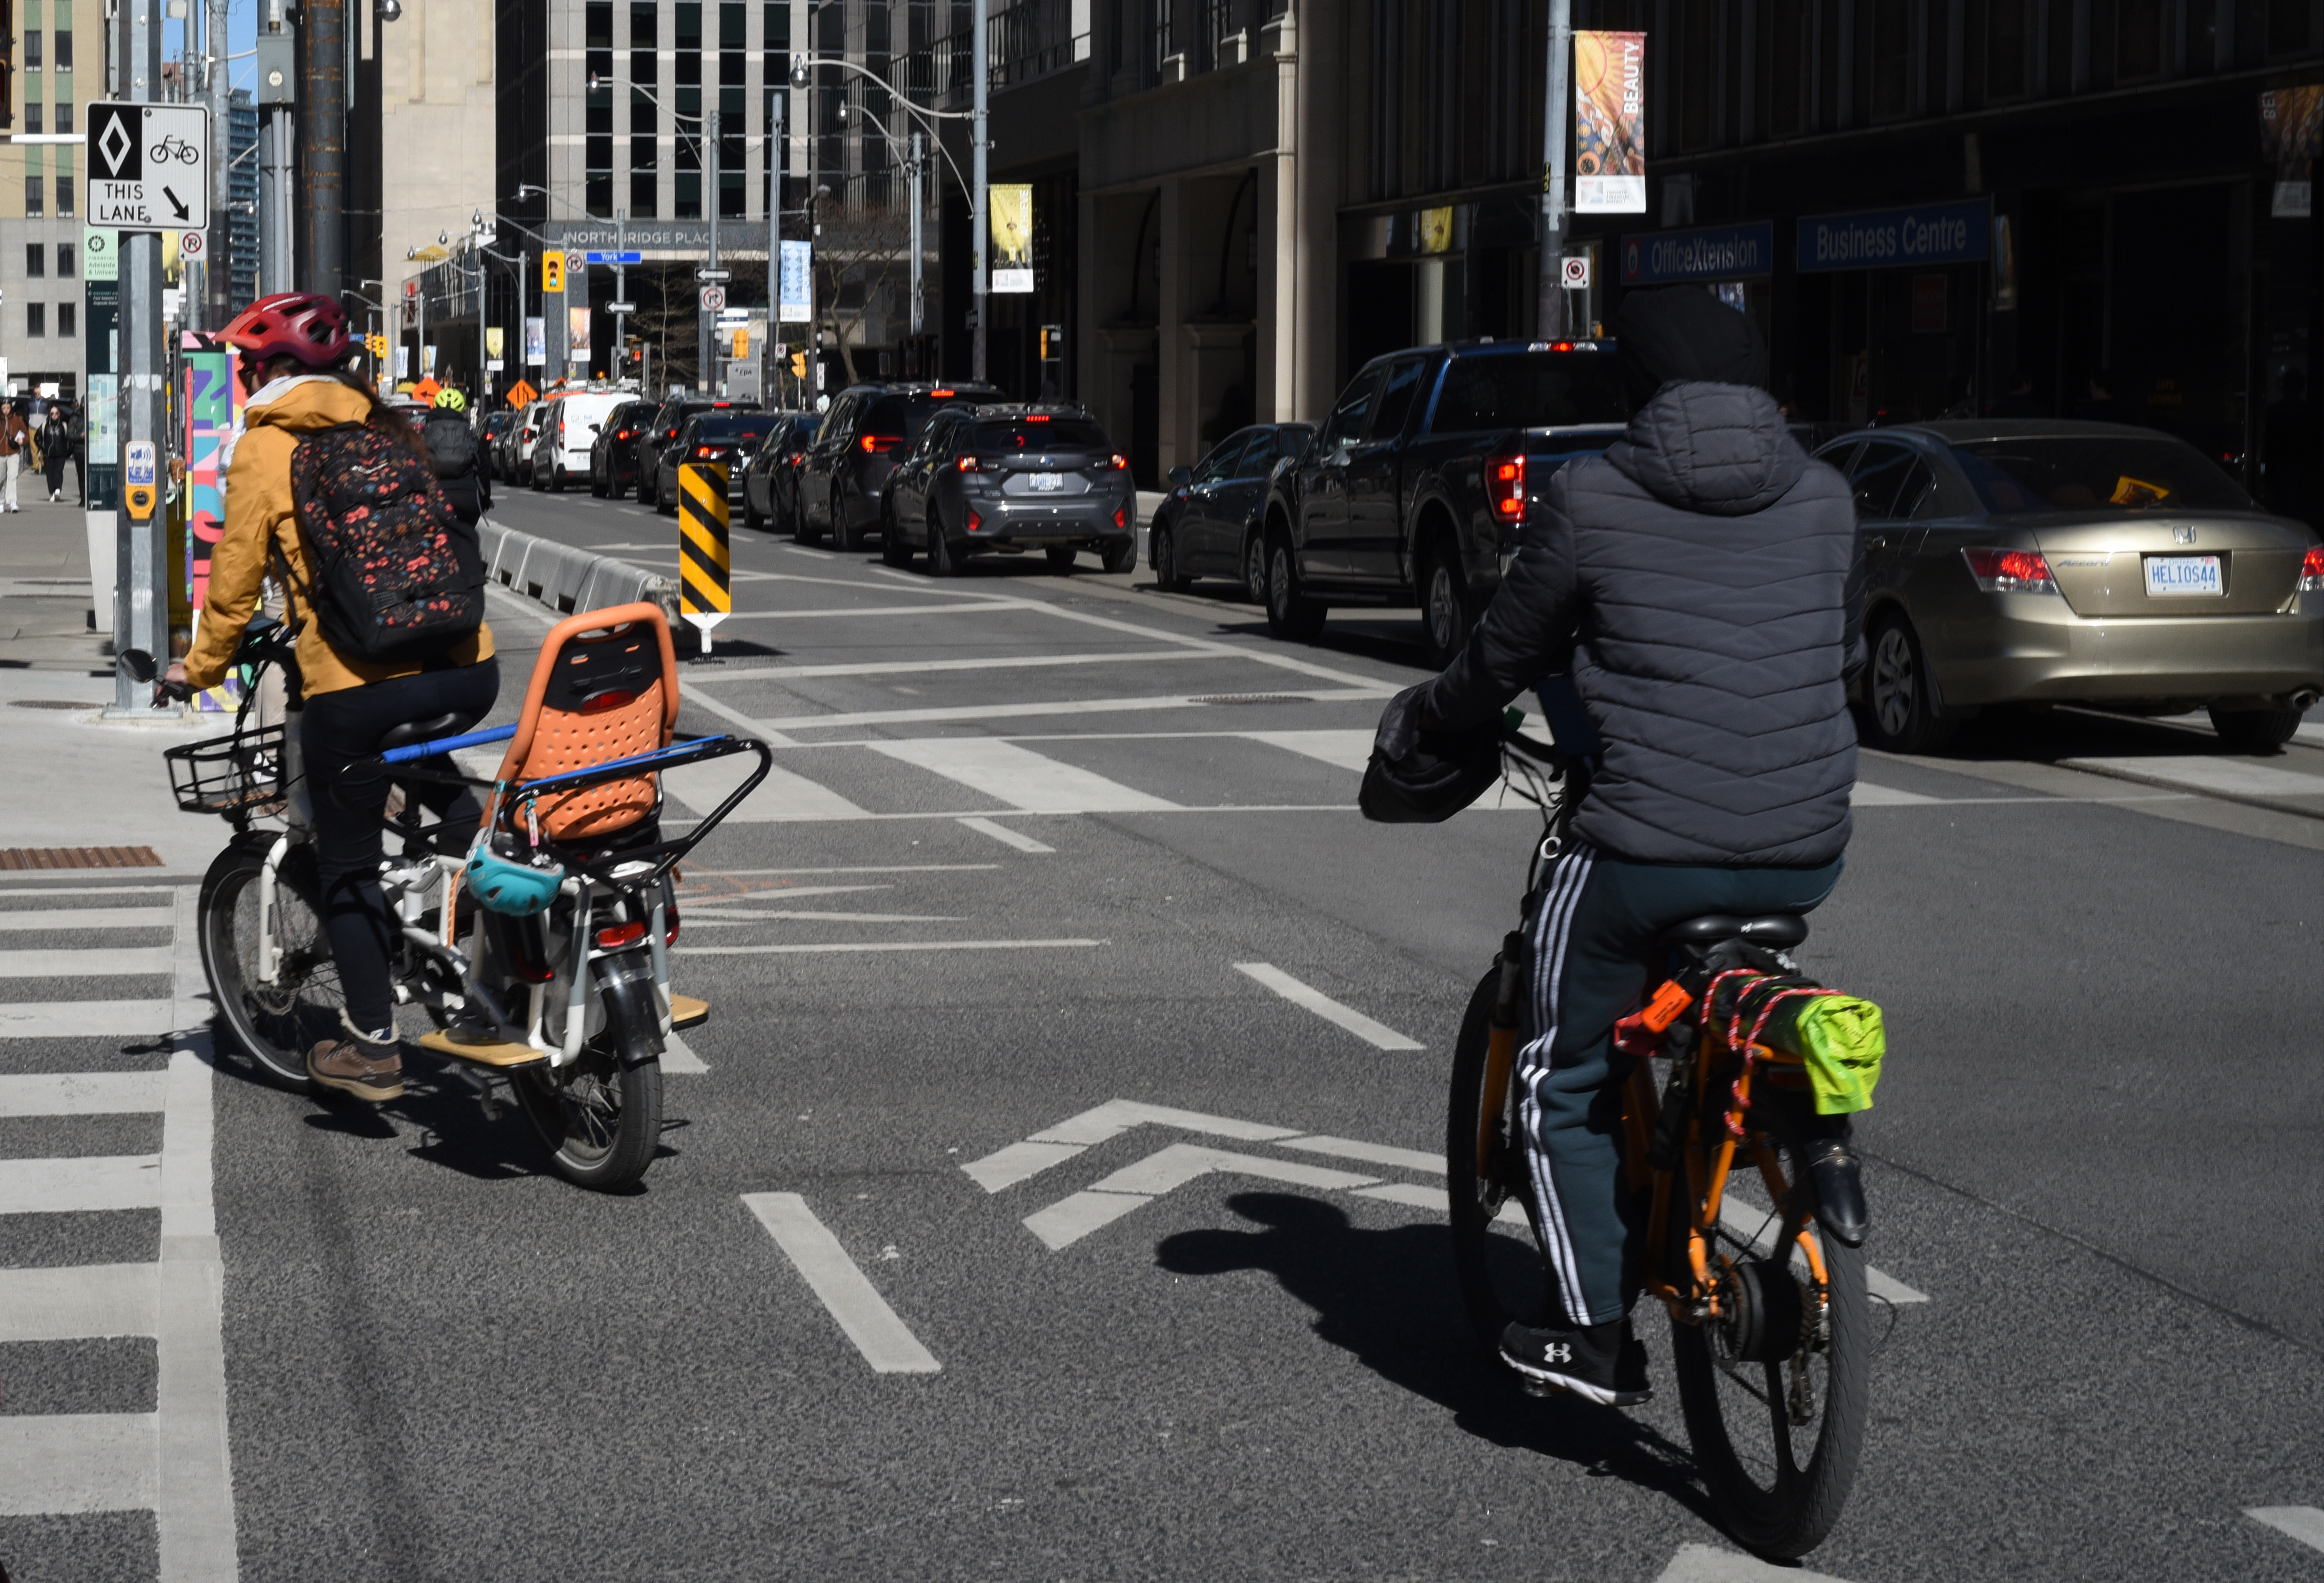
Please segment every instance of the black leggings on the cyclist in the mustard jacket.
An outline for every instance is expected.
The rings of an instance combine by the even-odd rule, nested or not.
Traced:
[[[314,865],[323,888],[323,930],[339,962],[346,1016],[363,1032],[395,1025],[395,990],[388,983],[393,946],[386,897],[379,893],[379,860],[386,855],[388,776],[356,767],[379,753],[379,739],[397,725],[439,714],[483,718],[500,697],[500,662],[481,660],[458,669],[374,681],[307,700],[300,744],[307,751],[307,797],[314,804]],[[451,769],[449,758],[423,760]],[[439,851],[467,846],[483,809],[465,786],[409,781],[421,807],[444,821],[430,835]]]

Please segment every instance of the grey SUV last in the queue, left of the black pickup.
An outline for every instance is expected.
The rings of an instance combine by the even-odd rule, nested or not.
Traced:
[[[944,407],[885,484],[888,565],[909,565],[913,546],[930,576],[990,551],[1041,549],[1055,572],[1071,572],[1083,549],[1109,572],[1139,558],[1129,458],[1083,407]]]

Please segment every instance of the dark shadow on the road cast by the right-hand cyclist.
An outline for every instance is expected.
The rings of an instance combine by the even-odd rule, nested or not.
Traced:
[[[1469,1434],[1657,1490],[1717,1525],[1683,1446],[1611,1406],[1527,1397],[1478,1355],[1443,1225],[1371,1232],[1336,1204],[1294,1192],[1236,1192],[1227,1206],[1262,1230],[1178,1232],[1155,1248],[1155,1262],[1181,1276],[1267,1272],[1315,1311],[1318,1337],[1452,1409]]]

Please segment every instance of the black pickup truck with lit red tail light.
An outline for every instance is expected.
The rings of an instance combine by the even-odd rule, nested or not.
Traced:
[[[1267,495],[1267,625],[1313,642],[1332,604],[1418,604],[1448,665],[1552,472],[1622,435],[1613,342],[1462,342],[1367,363]]]

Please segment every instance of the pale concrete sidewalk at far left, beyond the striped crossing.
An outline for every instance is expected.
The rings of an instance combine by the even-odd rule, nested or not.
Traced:
[[[0,848],[151,846],[160,869],[93,872],[200,879],[225,825],[179,814],[160,753],[228,723],[98,723],[114,697],[112,618],[100,611],[105,632],[88,630],[98,597],[86,518],[77,504],[49,504],[46,488],[19,484],[19,500],[21,514],[0,516]]]

